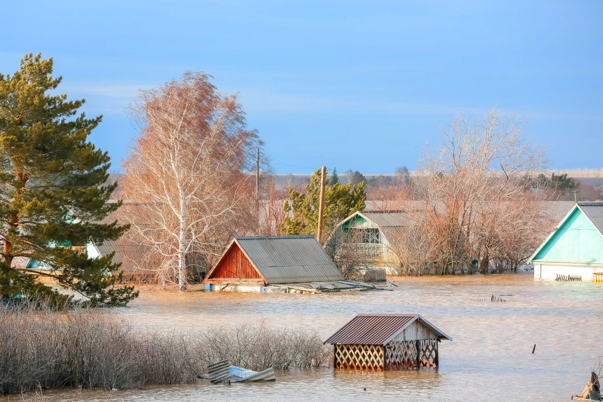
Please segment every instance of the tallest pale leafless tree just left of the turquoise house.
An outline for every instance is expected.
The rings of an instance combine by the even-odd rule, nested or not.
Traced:
[[[432,154],[424,152],[415,188],[438,234],[441,273],[463,272],[465,267],[471,272],[474,260],[487,272],[494,248],[501,248],[519,228],[534,228],[538,208],[528,215],[510,215],[518,200],[532,202],[534,209],[538,199],[525,196],[521,178],[545,165],[543,149],[529,145],[524,128],[523,119],[503,116],[496,108],[472,124],[458,115],[449,130],[441,127],[442,145]]]

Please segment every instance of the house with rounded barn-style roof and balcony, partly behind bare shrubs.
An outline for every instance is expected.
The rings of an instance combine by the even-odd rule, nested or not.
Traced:
[[[377,266],[391,268],[400,263],[391,248],[410,223],[409,214],[403,211],[367,210],[353,213],[340,225],[343,230],[357,234],[355,238],[358,243],[355,246],[358,253],[375,257],[378,260]]]

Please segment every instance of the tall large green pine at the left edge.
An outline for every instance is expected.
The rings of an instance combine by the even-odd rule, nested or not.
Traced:
[[[0,74],[0,292],[68,303],[71,297],[38,279],[50,277],[92,306],[124,305],[138,292],[119,286],[113,255],[89,259],[85,248],[118,239],[126,229],[102,223],[121,206],[108,203],[117,185],[104,185],[109,155],[87,142],[102,116],[75,116],[84,99],[46,93],[62,80],[51,74],[52,58],[40,54],[25,55],[12,77]],[[45,269],[13,266],[15,257]]]

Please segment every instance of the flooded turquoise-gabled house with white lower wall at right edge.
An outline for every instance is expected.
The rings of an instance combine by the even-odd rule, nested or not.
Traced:
[[[528,263],[536,279],[603,277],[603,203],[575,204]]]

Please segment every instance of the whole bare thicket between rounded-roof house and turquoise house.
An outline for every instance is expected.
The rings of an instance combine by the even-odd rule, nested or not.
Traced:
[[[424,151],[408,192],[381,197],[411,217],[390,235],[401,274],[516,271],[525,263],[546,236],[550,192],[525,186],[546,160],[524,128],[496,109],[471,124],[458,115],[449,130],[441,127],[441,146]]]

